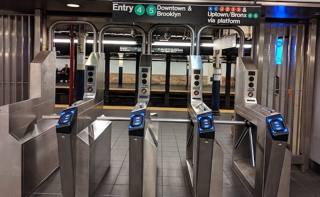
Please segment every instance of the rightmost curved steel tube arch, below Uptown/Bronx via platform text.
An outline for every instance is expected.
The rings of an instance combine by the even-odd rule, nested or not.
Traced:
[[[203,30],[208,28],[214,28],[214,29],[231,29],[235,30],[240,34],[240,50],[239,50],[239,57],[244,57],[245,50],[244,50],[244,44],[245,44],[245,33],[242,31],[241,28],[237,26],[218,26],[218,25],[206,25],[203,26],[196,35],[196,55],[200,55],[200,36]]]

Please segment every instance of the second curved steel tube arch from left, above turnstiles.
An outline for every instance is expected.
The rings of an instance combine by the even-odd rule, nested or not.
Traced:
[[[137,25],[123,25],[123,24],[108,24],[105,25],[101,28],[100,32],[99,32],[99,43],[98,43],[98,50],[99,52],[103,52],[103,37],[104,37],[104,33],[110,29],[110,28],[131,28],[131,29],[137,29],[141,32],[142,34],[142,54],[146,53],[146,42],[147,42],[147,34],[144,32],[144,30]]]

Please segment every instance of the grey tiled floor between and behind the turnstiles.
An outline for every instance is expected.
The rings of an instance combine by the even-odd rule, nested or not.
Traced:
[[[157,111],[159,117],[187,118],[187,112]],[[128,116],[129,110],[105,110],[106,116]],[[230,119],[222,114],[221,119]],[[216,125],[216,138],[224,148],[224,197],[249,197],[232,171],[230,126]],[[186,172],[186,124],[161,123],[158,144],[158,197],[191,197]],[[96,191],[96,197],[128,197],[129,146],[128,122],[112,123],[111,167]],[[62,197],[59,169],[32,197]],[[290,197],[320,197],[320,176],[291,170]]]

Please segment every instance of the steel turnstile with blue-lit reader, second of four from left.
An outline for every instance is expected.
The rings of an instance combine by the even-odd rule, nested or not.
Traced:
[[[141,55],[138,102],[129,123],[129,196],[156,197],[159,123],[151,123],[151,55]]]

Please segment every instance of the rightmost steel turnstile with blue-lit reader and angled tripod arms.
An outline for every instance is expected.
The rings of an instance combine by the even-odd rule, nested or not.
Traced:
[[[253,60],[238,58],[235,118],[250,121],[253,127],[235,127],[233,170],[253,197],[288,197],[291,165],[288,129],[280,113],[257,104],[256,81]]]

